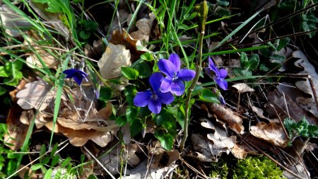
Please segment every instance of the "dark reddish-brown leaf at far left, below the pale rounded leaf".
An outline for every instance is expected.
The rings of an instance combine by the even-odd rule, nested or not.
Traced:
[[[14,105],[10,109],[8,118],[6,119],[8,133],[4,134],[4,144],[6,144],[6,146],[8,146],[13,151],[20,149],[28,132],[29,126],[23,124],[19,120],[22,112],[23,109],[21,109],[20,106]]]

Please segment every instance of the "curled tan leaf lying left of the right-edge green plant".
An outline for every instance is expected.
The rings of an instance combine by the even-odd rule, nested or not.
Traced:
[[[285,148],[288,145],[288,138],[281,125],[270,122],[258,122],[256,126],[251,126],[251,134],[260,139]]]

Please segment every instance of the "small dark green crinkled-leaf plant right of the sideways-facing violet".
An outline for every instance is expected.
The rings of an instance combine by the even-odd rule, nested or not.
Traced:
[[[252,76],[252,71],[257,69],[257,66],[259,66],[259,55],[252,54],[251,57],[247,57],[247,54],[242,52],[240,63],[240,68],[233,69],[235,76]]]

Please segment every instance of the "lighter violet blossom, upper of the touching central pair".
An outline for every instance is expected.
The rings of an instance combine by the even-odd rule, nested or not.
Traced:
[[[163,93],[170,91],[176,96],[182,96],[185,87],[183,81],[191,81],[196,72],[191,69],[180,69],[181,62],[177,54],[170,54],[169,59],[160,59],[158,68],[166,76],[160,89]]]

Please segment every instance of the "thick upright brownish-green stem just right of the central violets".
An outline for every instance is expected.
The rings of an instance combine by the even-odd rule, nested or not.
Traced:
[[[190,104],[191,94],[194,90],[194,87],[196,86],[196,83],[199,80],[201,71],[202,71],[202,46],[203,46],[203,37],[204,37],[204,31],[201,31],[199,34],[199,64],[196,66],[196,76],[194,76],[194,79],[191,83],[191,86],[188,88],[187,93],[187,100],[186,100],[186,109],[185,109],[185,117],[184,117],[184,127],[183,127],[183,137],[179,146],[179,151],[182,151],[184,149],[184,144],[188,137],[188,123],[189,123],[189,111],[192,106]]]

